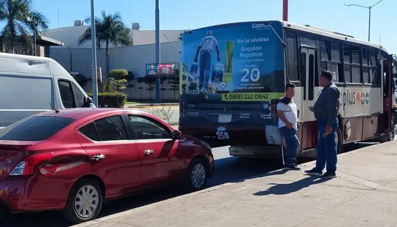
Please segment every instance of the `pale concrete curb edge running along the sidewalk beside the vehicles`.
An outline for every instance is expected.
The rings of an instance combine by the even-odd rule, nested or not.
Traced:
[[[393,143],[393,142],[387,142],[387,143]],[[364,151],[364,150],[367,150],[367,149],[370,149],[370,148],[374,148],[374,147],[377,147],[377,146],[380,146],[380,145],[384,145],[384,144],[387,144],[387,143],[372,145],[372,146],[368,146],[368,147],[365,147],[365,148],[360,148],[360,149],[357,149],[357,150],[354,150],[354,151],[345,152],[345,153],[339,154],[338,157],[347,156],[349,154],[350,155],[356,155],[360,151]],[[302,164],[300,164],[298,166],[299,167],[308,167],[308,168],[310,168],[313,164],[315,165],[315,160],[314,161],[309,161],[309,162],[306,162],[306,163],[302,163]],[[245,182],[247,180],[250,180],[250,179],[253,179],[253,178],[264,177],[266,175],[269,175],[272,172],[276,172],[276,171],[280,171],[280,170],[282,170],[282,169],[277,169],[277,170],[274,170],[274,171],[271,171],[271,172],[261,173],[261,174],[258,174],[258,175],[241,178],[241,179],[235,180],[233,182],[223,183],[223,184],[220,184],[220,185],[217,185],[217,186],[213,186],[213,187],[210,187],[210,188],[203,189],[201,191],[197,191],[197,192],[193,192],[193,193],[177,196],[177,197],[174,197],[174,198],[170,198],[170,199],[167,199],[167,200],[159,201],[157,203],[152,203],[152,204],[148,204],[148,205],[145,205],[145,206],[133,208],[131,210],[123,211],[123,212],[120,212],[120,213],[117,213],[117,214],[109,215],[109,216],[106,216],[106,217],[103,217],[103,218],[99,218],[99,219],[96,219],[96,220],[93,220],[93,221],[89,221],[89,222],[86,222],[86,223],[74,225],[74,226],[71,226],[71,227],[89,227],[89,226],[92,226],[92,225],[95,225],[95,224],[98,224],[98,223],[104,223],[104,222],[106,222],[108,220],[111,220],[111,219],[119,218],[119,217],[125,216],[125,215],[135,214],[135,213],[138,213],[138,212],[142,212],[142,211],[145,211],[145,210],[160,206],[162,204],[169,204],[169,203],[172,203],[172,202],[175,202],[175,201],[178,201],[178,200],[182,200],[182,199],[185,199],[185,198],[189,198],[189,197],[192,197],[192,196],[196,196],[196,195],[199,195],[199,194],[203,194],[203,193],[215,191],[215,190],[218,190],[218,189],[221,189],[221,188],[224,188],[224,187],[228,187],[228,186],[231,186],[231,185],[243,183],[243,182]]]

